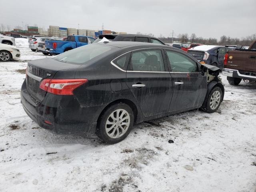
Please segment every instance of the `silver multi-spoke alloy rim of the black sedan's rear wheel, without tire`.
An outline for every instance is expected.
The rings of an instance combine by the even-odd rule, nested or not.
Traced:
[[[124,109],[117,109],[108,116],[105,130],[110,138],[122,137],[130,126],[130,115]]]

